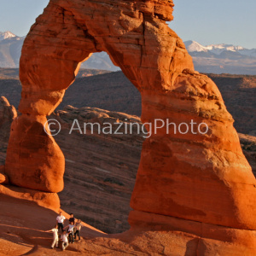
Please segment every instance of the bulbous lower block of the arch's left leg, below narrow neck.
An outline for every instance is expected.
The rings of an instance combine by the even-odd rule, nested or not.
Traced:
[[[40,115],[22,115],[15,119],[11,126],[5,172],[10,183],[16,186],[60,192],[63,189],[64,156],[54,138],[44,131],[46,121],[46,117]]]

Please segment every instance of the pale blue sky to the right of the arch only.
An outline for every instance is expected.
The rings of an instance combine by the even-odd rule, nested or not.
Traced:
[[[177,0],[171,28],[200,44],[235,44],[256,48],[255,0]]]

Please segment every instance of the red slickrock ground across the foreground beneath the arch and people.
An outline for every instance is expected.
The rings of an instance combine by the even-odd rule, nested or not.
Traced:
[[[167,255],[167,256],[195,256],[195,255],[225,255],[225,256],[253,256],[250,247],[242,247],[241,241],[216,241],[211,236],[223,239],[221,228],[215,234],[207,234],[209,238],[201,238],[179,231],[172,230],[130,230],[124,234],[107,236],[88,224],[82,228],[82,241],[70,244],[65,252],[61,248],[52,250],[52,234],[45,233],[55,225],[57,213],[44,207],[38,207],[31,201],[22,201],[0,195],[0,255]],[[15,211],[14,211],[15,209]],[[10,213],[11,212],[11,213]],[[65,214],[66,215],[66,214]],[[66,215],[66,217],[68,217]],[[172,222],[179,223],[179,219]],[[192,224],[184,221],[185,230],[193,228]],[[182,226],[182,225],[181,225]],[[211,227],[212,228],[212,227]],[[216,231],[216,230],[215,230]],[[242,238],[236,234],[237,238]],[[249,240],[250,237],[247,237]],[[231,253],[230,253],[231,252]]]

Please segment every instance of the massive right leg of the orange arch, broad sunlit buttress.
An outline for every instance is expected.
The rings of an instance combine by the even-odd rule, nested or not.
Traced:
[[[157,106],[157,108],[155,108]],[[170,107],[168,107],[170,106]],[[211,79],[185,71],[173,90],[143,96],[142,120],[206,123],[206,135],[166,127],[143,144],[131,207],[142,212],[253,230],[255,178],[233,119]],[[148,196],[149,195],[149,196]]]

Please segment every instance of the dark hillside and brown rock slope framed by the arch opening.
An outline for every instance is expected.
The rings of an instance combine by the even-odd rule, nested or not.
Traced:
[[[131,193],[144,140],[137,132],[142,127],[140,118],[133,115],[141,114],[141,96],[122,72],[87,77],[91,71],[80,68],[59,110],[48,118],[61,123],[61,132],[55,136],[65,156],[61,209],[75,212],[76,218],[98,230],[119,233],[130,228]],[[73,126],[75,119],[79,125]],[[108,123],[112,134],[102,131]],[[130,131],[134,123],[139,125]],[[90,124],[96,125],[94,129]]]

